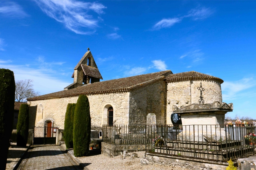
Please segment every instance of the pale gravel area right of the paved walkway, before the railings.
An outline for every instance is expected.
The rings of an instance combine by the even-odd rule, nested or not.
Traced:
[[[166,167],[160,164],[144,165],[140,163],[140,159],[145,151],[134,152],[138,154],[138,158],[131,159],[130,156],[120,159],[120,156],[109,158],[104,155],[93,155],[78,157],[81,163],[86,164],[88,170],[180,170],[181,168]],[[132,153],[130,153],[131,155]]]

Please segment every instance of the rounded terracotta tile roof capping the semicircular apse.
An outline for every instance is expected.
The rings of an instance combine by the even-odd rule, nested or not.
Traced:
[[[178,82],[183,80],[215,80],[220,83],[224,82],[222,79],[218,77],[206,75],[196,71],[188,71],[166,76],[167,82]]]

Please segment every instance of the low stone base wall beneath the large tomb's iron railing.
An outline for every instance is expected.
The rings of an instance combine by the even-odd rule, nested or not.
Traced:
[[[200,169],[226,170],[227,162],[210,161],[204,159],[197,159],[191,157],[171,156],[162,154],[146,153],[145,157],[141,159],[143,164],[158,163],[162,165],[171,165],[173,167],[200,167]]]

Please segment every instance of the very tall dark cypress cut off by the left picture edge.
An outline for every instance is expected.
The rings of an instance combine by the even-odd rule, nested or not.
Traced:
[[[15,81],[11,70],[0,69],[0,169],[6,168],[13,127]]]

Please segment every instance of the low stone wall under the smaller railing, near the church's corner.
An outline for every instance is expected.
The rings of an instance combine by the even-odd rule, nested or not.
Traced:
[[[128,152],[145,151],[145,144],[114,145],[106,142],[101,142],[101,154],[105,156],[119,156],[120,152],[122,152],[123,150],[126,150]]]

